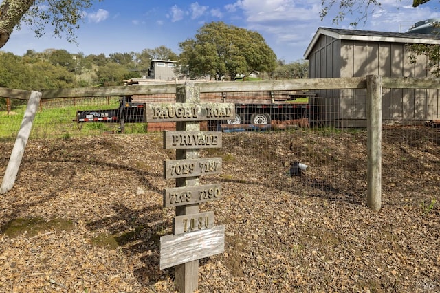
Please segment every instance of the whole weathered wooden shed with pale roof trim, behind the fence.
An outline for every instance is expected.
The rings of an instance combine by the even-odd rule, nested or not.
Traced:
[[[430,76],[426,56],[410,63],[406,44],[440,45],[432,34],[376,32],[318,28],[304,54],[309,78]],[[440,119],[439,91],[434,89],[384,89],[382,118],[388,124],[420,124]],[[311,100],[316,120],[334,127],[366,126],[365,89],[319,91]]]

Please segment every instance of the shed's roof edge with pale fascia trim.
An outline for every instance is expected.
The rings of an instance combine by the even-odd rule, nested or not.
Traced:
[[[347,30],[341,28],[318,28],[316,34],[304,53],[304,57],[306,59],[321,35],[331,36],[332,38],[340,40],[440,45],[440,36],[434,34],[380,32],[375,30]]]

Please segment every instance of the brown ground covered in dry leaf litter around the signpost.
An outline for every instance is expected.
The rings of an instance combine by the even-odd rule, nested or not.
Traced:
[[[366,131],[223,133],[225,252],[199,261],[199,292],[440,292],[440,139],[383,133],[382,209],[366,206]],[[0,142],[0,176],[12,142]],[[0,195],[0,292],[174,292],[159,270],[162,133],[30,140]],[[289,174],[294,161],[311,166]],[[2,177],[0,177],[2,178]]]

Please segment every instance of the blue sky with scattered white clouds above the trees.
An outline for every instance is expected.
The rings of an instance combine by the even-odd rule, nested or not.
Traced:
[[[380,0],[379,0],[380,1]],[[0,1],[1,2],[1,1]],[[440,17],[440,3],[431,0],[412,8],[412,0],[383,0],[360,30],[406,32],[416,21]],[[432,2],[432,3],[431,3]],[[50,28],[37,39],[29,27],[15,30],[0,50],[23,55],[29,49],[65,49],[88,54],[142,52],[164,45],[179,54],[179,43],[192,38],[204,23],[223,21],[259,32],[278,59],[287,63],[303,59],[303,54],[319,27],[351,28],[357,14],[335,25],[338,9],[321,21],[321,0],[222,0],[156,1],[104,0],[85,12],[76,32],[78,45],[52,36]]]

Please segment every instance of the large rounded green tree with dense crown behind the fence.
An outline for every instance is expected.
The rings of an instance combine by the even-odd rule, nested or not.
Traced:
[[[203,25],[194,39],[179,43],[180,68],[188,65],[190,76],[211,76],[217,80],[237,74],[271,72],[276,55],[258,32],[212,22]]]

